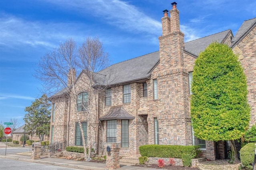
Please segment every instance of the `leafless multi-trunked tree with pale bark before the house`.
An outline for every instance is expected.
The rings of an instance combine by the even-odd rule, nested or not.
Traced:
[[[76,114],[82,139],[85,136],[81,121],[84,121],[84,118],[87,121],[86,141],[83,140],[85,158],[91,157],[92,138],[98,132],[97,103],[100,93],[107,87],[102,86],[105,75],[100,75],[98,71],[108,65],[108,53],[104,52],[102,42],[98,38],[87,38],[80,47],[70,38],[65,43],[60,43],[52,53],[44,55],[38,63],[36,77],[44,83],[45,90],[49,93],[62,90],[68,94],[72,103],[80,101],[81,105],[74,105],[76,109],[72,112]],[[76,80],[78,72],[80,75]],[[81,91],[88,94],[86,103],[78,97]],[[85,108],[82,114],[78,107]]]

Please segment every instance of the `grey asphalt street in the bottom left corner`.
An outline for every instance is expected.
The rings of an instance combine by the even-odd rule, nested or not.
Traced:
[[[73,168],[64,168],[60,166],[44,165],[4,158],[0,158],[0,162],[1,170],[75,170]]]

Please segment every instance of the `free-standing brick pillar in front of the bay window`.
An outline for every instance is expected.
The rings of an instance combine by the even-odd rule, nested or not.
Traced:
[[[110,152],[107,152],[106,158],[106,169],[113,170],[120,168],[119,164],[119,152],[120,152],[120,143],[106,143],[105,148],[110,147]]]

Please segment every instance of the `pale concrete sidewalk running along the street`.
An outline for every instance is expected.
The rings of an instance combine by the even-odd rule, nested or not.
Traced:
[[[0,145],[3,146],[3,144],[1,143]],[[106,166],[106,164],[103,164],[103,163],[75,161],[75,160],[60,159],[60,158],[53,158],[53,157],[45,157],[38,160],[32,160],[31,156],[26,156],[21,154],[6,154],[6,156],[0,155],[0,158],[34,162],[39,164],[48,164],[48,165],[54,165],[54,166],[63,166],[68,168],[84,169],[84,170],[105,170],[105,166]],[[148,170],[149,169],[149,168],[143,168],[138,166],[128,166],[128,165],[122,165],[122,164],[120,164],[120,166],[121,167],[118,170]],[[150,170],[156,170],[156,169],[150,168]]]

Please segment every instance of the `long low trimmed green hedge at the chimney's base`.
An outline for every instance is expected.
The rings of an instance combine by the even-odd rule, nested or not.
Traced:
[[[200,146],[158,145],[149,144],[139,147],[141,156],[160,158],[182,158],[182,154],[189,154],[198,158]]]

